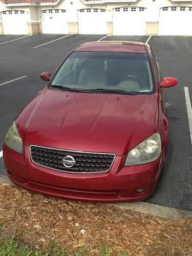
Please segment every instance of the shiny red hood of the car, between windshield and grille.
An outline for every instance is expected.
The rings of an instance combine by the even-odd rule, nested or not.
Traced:
[[[25,144],[122,155],[154,132],[155,95],[45,89],[17,117]]]

